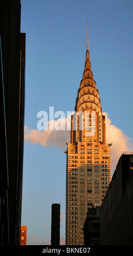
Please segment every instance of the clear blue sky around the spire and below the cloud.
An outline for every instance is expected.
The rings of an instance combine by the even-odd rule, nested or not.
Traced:
[[[65,114],[74,110],[88,19],[91,67],[103,112],[132,140],[132,11],[132,0],[21,0],[21,32],[26,33],[24,124],[29,129],[37,129],[37,113],[48,113],[50,106]],[[27,225],[28,244],[50,242],[53,203],[61,205],[60,235],[65,239],[66,144],[62,150],[58,146],[24,141],[22,225]]]

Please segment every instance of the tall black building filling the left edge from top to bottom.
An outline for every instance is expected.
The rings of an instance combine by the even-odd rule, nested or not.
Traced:
[[[19,245],[21,230],[26,34],[20,1],[0,1],[0,244]]]

